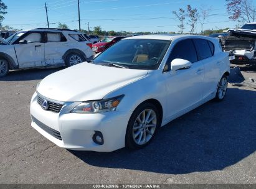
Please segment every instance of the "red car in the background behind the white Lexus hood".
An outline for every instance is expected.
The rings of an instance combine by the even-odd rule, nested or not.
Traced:
[[[125,37],[105,37],[101,42],[98,42],[97,44],[92,45],[93,52],[103,52],[111,45],[115,44],[116,42],[120,41]]]

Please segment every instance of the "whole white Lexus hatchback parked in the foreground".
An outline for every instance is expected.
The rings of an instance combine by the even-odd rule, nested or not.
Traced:
[[[229,71],[216,39],[126,38],[92,62],[44,78],[31,99],[32,127],[66,149],[140,149],[159,127],[223,99]]]

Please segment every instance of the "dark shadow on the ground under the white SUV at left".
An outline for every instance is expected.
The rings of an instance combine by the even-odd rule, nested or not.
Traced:
[[[12,70],[9,71],[7,76],[0,78],[0,81],[29,81],[29,80],[42,80],[45,76],[50,75],[56,71],[62,70],[61,68],[45,68],[45,69],[29,69],[29,70]]]

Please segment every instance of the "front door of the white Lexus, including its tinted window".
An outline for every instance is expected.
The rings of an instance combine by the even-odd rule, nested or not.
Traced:
[[[171,62],[176,58],[189,60],[192,66],[177,70],[174,75],[170,71],[163,73],[166,78],[167,119],[183,114],[202,100],[204,64],[198,61],[191,39],[181,40],[174,45],[168,58],[169,70]]]

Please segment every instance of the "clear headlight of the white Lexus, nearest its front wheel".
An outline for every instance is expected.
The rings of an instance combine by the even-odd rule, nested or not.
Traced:
[[[95,114],[115,111],[123,96],[125,95],[116,96],[109,99],[102,99],[99,101],[86,101],[75,106],[70,113]]]

